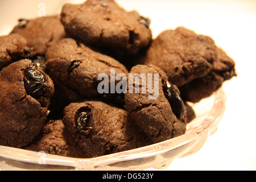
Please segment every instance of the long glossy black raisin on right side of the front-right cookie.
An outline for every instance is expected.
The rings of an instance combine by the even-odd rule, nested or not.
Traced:
[[[176,117],[180,120],[184,119],[186,114],[184,102],[180,97],[179,92],[171,82],[167,81],[167,85],[164,88],[164,95],[169,101],[172,107],[172,111],[174,112]]]

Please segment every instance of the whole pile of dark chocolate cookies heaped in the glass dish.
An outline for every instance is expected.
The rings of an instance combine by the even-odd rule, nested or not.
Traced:
[[[125,75],[132,90],[130,74],[157,84],[100,93],[101,73]],[[94,158],[162,142],[196,117],[188,102],[234,76],[234,61],[208,36],[178,27],[152,39],[150,19],[113,0],[65,4],[0,37],[0,144]]]

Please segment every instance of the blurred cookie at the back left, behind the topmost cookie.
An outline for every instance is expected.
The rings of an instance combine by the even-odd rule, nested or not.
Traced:
[[[58,40],[67,37],[60,16],[42,16],[36,19],[20,19],[11,34],[20,34],[27,39],[31,57],[44,55],[46,49]]]

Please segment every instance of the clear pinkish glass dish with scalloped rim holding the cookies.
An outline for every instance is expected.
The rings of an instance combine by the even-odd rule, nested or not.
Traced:
[[[211,97],[191,104],[197,117],[188,123],[184,135],[150,146],[91,159],[68,158],[0,146],[2,170],[144,170],[165,169],[172,160],[199,151],[209,135],[216,132],[225,110],[222,89]]]

